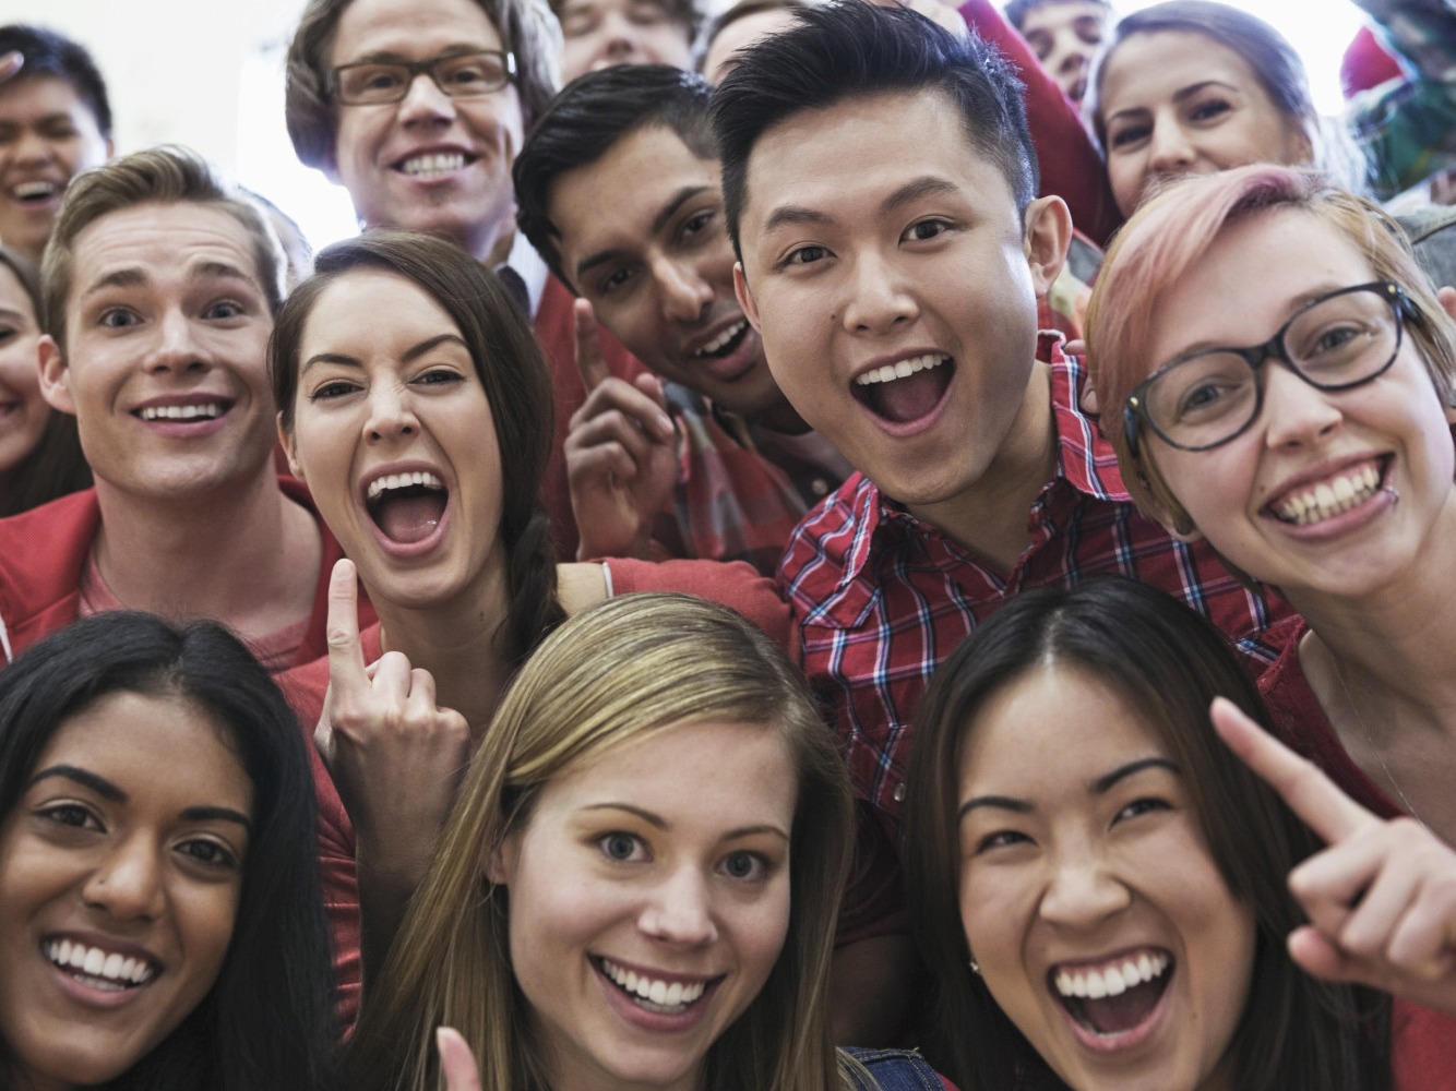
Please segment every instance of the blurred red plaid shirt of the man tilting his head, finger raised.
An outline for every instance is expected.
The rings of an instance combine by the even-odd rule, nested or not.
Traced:
[[[668,384],[667,396],[678,433],[676,527],[654,538],[667,543],[676,532],[676,548],[668,548],[673,556],[744,560],[772,576],[794,528],[810,503],[821,499],[810,489],[811,476],[792,461],[788,467],[770,463],[753,447],[745,428],[735,428],[738,436],[731,435],[728,426],[734,422],[719,420],[697,394]],[[791,479],[786,468],[799,470],[799,480]],[[801,495],[796,484],[811,495]],[[826,492],[837,486],[839,480],[830,477]]]

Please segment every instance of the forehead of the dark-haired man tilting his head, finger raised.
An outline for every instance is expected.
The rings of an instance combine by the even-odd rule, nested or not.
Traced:
[[[721,196],[718,160],[699,159],[670,127],[651,124],[558,177],[547,208],[562,253],[579,257],[655,234],[684,191]]]

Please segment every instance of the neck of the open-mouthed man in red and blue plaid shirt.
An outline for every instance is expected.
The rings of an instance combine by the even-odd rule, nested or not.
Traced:
[[[976,557],[1008,573],[1031,544],[1026,516],[1057,468],[1051,375],[1035,362],[1026,396],[990,465],[965,492],[910,513],[943,531]]]

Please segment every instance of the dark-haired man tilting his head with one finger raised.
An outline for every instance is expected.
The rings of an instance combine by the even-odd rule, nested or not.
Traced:
[[[601,378],[571,420],[581,556],[677,556],[772,575],[805,512],[849,474],[779,390],[734,297],[711,89],[665,65],[572,83],[515,163],[521,230],[667,385]],[[662,413],[673,426],[662,428]]]

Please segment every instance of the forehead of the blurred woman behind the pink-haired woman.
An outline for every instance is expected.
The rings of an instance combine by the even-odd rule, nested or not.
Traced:
[[[1222,83],[1270,103],[1239,54],[1192,31],[1134,33],[1117,44],[1102,67],[1104,116],[1121,109],[1156,106],[1201,83]]]

